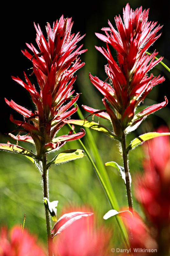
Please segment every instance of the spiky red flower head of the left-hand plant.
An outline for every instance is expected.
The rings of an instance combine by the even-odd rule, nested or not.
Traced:
[[[79,33],[71,34],[73,22],[71,18],[64,19],[61,16],[60,20],[53,23],[53,28],[49,23],[46,26],[47,40],[45,39],[39,25],[35,25],[37,31],[36,42],[39,50],[32,44],[26,44],[32,53],[27,50],[22,51],[24,55],[32,61],[33,73],[35,74],[39,91],[35,88],[29,78],[25,74],[25,81],[19,77],[12,77],[13,80],[23,86],[31,95],[32,101],[35,104],[35,112],[27,110],[19,106],[13,100],[6,103],[17,110],[24,116],[24,121],[14,120],[10,116],[10,120],[27,132],[26,136],[13,135],[11,137],[17,140],[25,140],[35,143],[37,155],[41,156],[46,145],[49,148],[49,143],[53,143],[53,138],[59,129],[65,124],[63,121],[70,118],[76,112],[77,107],[68,110],[79,98],[79,94],[72,96],[74,93],[73,83],[76,76],[75,71],[81,68],[84,63],[81,63],[79,55],[86,50],[80,50],[82,45],[77,48],[77,43],[83,38]],[[66,140],[62,143],[57,143],[53,148],[60,148],[66,141],[81,138],[85,134],[84,130],[76,135],[66,135]],[[54,144],[54,143],[53,143]]]

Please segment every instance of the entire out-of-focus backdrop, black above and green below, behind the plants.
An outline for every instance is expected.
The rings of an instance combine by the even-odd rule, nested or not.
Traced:
[[[21,115],[9,108],[5,104],[4,98],[14,100],[21,106],[33,110],[33,105],[29,95],[20,85],[11,79],[12,76],[19,76],[24,79],[23,71],[30,74],[29,68],[31,63],[27,60],[21,52],[25,49],[25,42],[32,43],[36,46],[35,36],[36,32],[33,22],[39,23],[45,35],[46,22],[52,26],[53,21],[59,19],[63,14],[65,18],[72,17],[74,25],[72,33],[86,34],[81,40],[80,44],[84,44],[84,48],[88,51],[81,55],[82,61],[86,64],[76,72],[77,80],[74,84],[75,92],[82,93],[77,104],[80,106],[88,105],[93,108],[103,108],[102,95],[89,81],[89,72],[93,76],[98,76],[101,80],[107,78],[104,72],[104,65],[107,63],[105,58],[96,49],[97,46],[104,46],[95,32],[100,33],[101,28],[108,26],[108,19],[114,27],[114,17],[123,13],[127,1],[85,1],[82,3],[67,2],[59,3],[58,1],[13,1],[10,5],[4,3],[3,8],[6,12],[3,25],[3,51],[2,51],[2,83],[1,83],[1,129],[0,142],[6,143],[10,140],[11,143],[16,141],[9,138],[5,133],[15,130],[16,127],[9,121],[10,113],[15,119],[22,120]],[[82,4],[82,7],[81,7]],[[161,28],[162,35],[149,48],[151,52],[155,49],[160,56],[164,56],[165,64],[170,67],[169,56],[169,6],[155,1],[129,1],[132,9],[143,6],[143,9],[150,9],[149,20],[158,21],[158,24],[164,25]],[[79,45],[80,45],[79,44]],[[154,76],[165,76],[166,81],[156,86],[145,99],[146,106],[164,101],[164,96],[170,99],[169,82],[170,76],[168,72],[159,64],[152,69]],[[32,80],[34,78],[32,77]],[[35,82],[35,81],[34,81]],[[169,96],[169,97],[168,97]],[[141,108],[140,107],[140,108]],[[88,113],[81,108],[83,115],[86,117]],[[75,114],[72,116],[77,119]],[[90,119],[89,119],[90,120]],[[98,118],[95,117],[98,122]],[[109,129],[110,123],[100,119],[100,124],[106,125]],[[170,126],[170,108],[167,105],[165,108],[150,115],[139,126],[137,131],[128,135],[127,141],[130,142],[136,136],[151,132],[161,124]],[[59,135],[67,134],[70,128],[65,125],[59,132]],[[75,127],[75,131],[79,132],[80,127]],[[103,160],[103,163],[115,161],[122,165],[122,158],[119,152],[119,145],[115,140],[111,140],[106,135],[91,131],[94,136],[97,148]],[[90,145],[87,141],[86,135],[82,138],[89,152]],[[128,143],[127,142],[127,143]],[[20,146],[29,148],[30,146],[24,143],[19,143]],[[68,148],[82,148],[79,141],[67,142],[61,148],[61,151]],[[31,149],[31,148],[30,148]],[[32,149],[34,150],[34,149]],[[58,153],[58,152],[57,152]],[[92,154],[92,153],[91,153]],[[54,153],[49,155],[49,159],[54,156]],[[92,156],[92,155],[91,155]],[[94,161],[95,158],[92,156]],[[132,150],[129,154],[129,165],[132,176],[132,193],[133,193],[133,177],[136,172],[142,172],[142,147],[139,146]],[[127,206],[127,197],[124,181],[121,179],[119,173],[112,167],[106,167],[110,177],[114,192],[117,197],[119,206]],[[122,243],[120,231],[117,227],[116,220],[103,220],[103,215],[110,210],[110,204],[105,196],[103,188],[98,180],[95,171],[87,156],[82,159],[77,159],[69,163],[52,166],[49,170],[49,193],[50,201],[58,200],[57,215],[67,205],[81,206],[88,205],[94,209],[96,214],[97,224],[105,224],[110,226],[113,230],[113,243]],[[26,214],[25,227],[31,232],[36,233],[39,239],[46,240],[46,224],[43,206],[43,193],[41,187],[41,177],[35,166],[25,157],[18,154],[10,154],[0,151],[0,226],[3,224],[11,228],[15,224],[23,223],[24,214]],[[143,216],[140,206],[133,196],[135,209]]]

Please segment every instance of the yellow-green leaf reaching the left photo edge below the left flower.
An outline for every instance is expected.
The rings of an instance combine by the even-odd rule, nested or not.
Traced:
[[[36,156],[31,151],[29,151],[25,148],[22,148],[20,146],[14,145],[14,144],[0,143],[0,149],[6,150],[6,151],[9,151],[9,152],[12,152],[12,153],[19,153],[19,154],[27,156],[28,158],[32,157],[32,158],[35,158],[37,160],[41,160],[41,158],[39,156]]]

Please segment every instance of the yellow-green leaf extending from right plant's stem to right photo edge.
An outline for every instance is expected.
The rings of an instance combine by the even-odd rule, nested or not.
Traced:
[[[126,148],[126,152],[128,153],[130,149],[135,148],[136,146],[138,146],[139,144],[143,143],[146,140],[150,140],[152,138],[165,136],[165,135],[170,135],[170,132],[162,132],[162,133],[148,132],[148,133],[142,134],[136,139],[131,141],[131,144]]]

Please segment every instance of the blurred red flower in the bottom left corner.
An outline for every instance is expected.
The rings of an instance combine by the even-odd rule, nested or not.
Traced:
[[[14,226],[10,232],[6,227],[1,228],[0,255],[2,256],[46,256],[37,244],[37,239],[25,228],[22,233],[21,227]]]

